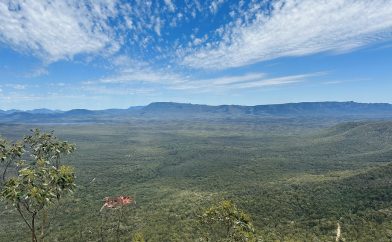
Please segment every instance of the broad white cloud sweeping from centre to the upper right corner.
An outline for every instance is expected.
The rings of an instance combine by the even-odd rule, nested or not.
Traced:
[[[285,56],[344,52],[392,39],[390,0],[285,0],[249,24],[226,26],[221,41],[188,50],[193,68],[240,67]]]

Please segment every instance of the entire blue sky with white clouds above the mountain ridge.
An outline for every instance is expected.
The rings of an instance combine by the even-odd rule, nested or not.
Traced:
[[[0,109],[392,103],[392,0],[1,0]]]

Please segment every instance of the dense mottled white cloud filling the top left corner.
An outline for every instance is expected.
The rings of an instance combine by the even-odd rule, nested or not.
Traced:
[[[0,42],[53,62],[79,53],[115,51],[106,24],[116,14],[115,2],[2,1]]]

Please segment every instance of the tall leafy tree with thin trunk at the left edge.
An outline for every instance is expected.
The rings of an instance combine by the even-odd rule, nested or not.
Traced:
[[[71,166],[61,164],[64,155],[75,150],[73,144],[59,140],[53,132],[32,130],[23,141],[10,144],[0,140],[0,156],[4,165],[0,197],[11,203],[38,241],[37,217],[43,213],[41,236],[44,236],[47,208],[72,192],[75,173]],[[23,160],[23,159],[25,160]],[[13,176],[7,176],[13,166]]]

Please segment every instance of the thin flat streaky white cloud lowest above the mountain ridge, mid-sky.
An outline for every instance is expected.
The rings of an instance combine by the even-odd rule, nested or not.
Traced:
[[[214,78],[195,78],[169,69],[152,69],[148,66],[125,66],[117,74],[83,82],[85,87],[107,92],[129,90],[129,88],[171,89],[198,92],[215,92],[222,90],[238,90],[263,88],[268,86],[289,85],[312,80],[312,78],[326,75],[326,72],[307,73],[271,77],[266,73],[245,73],[241,75],[220,75]],[[90,90],[93,90],[90,89]],[[122,91],[120,91],[123,89]],[[113,90],[113,91],[111,91]],[[132,89],[133,90],[133,89]],[[102,91],[100,91],[102,92]]]

